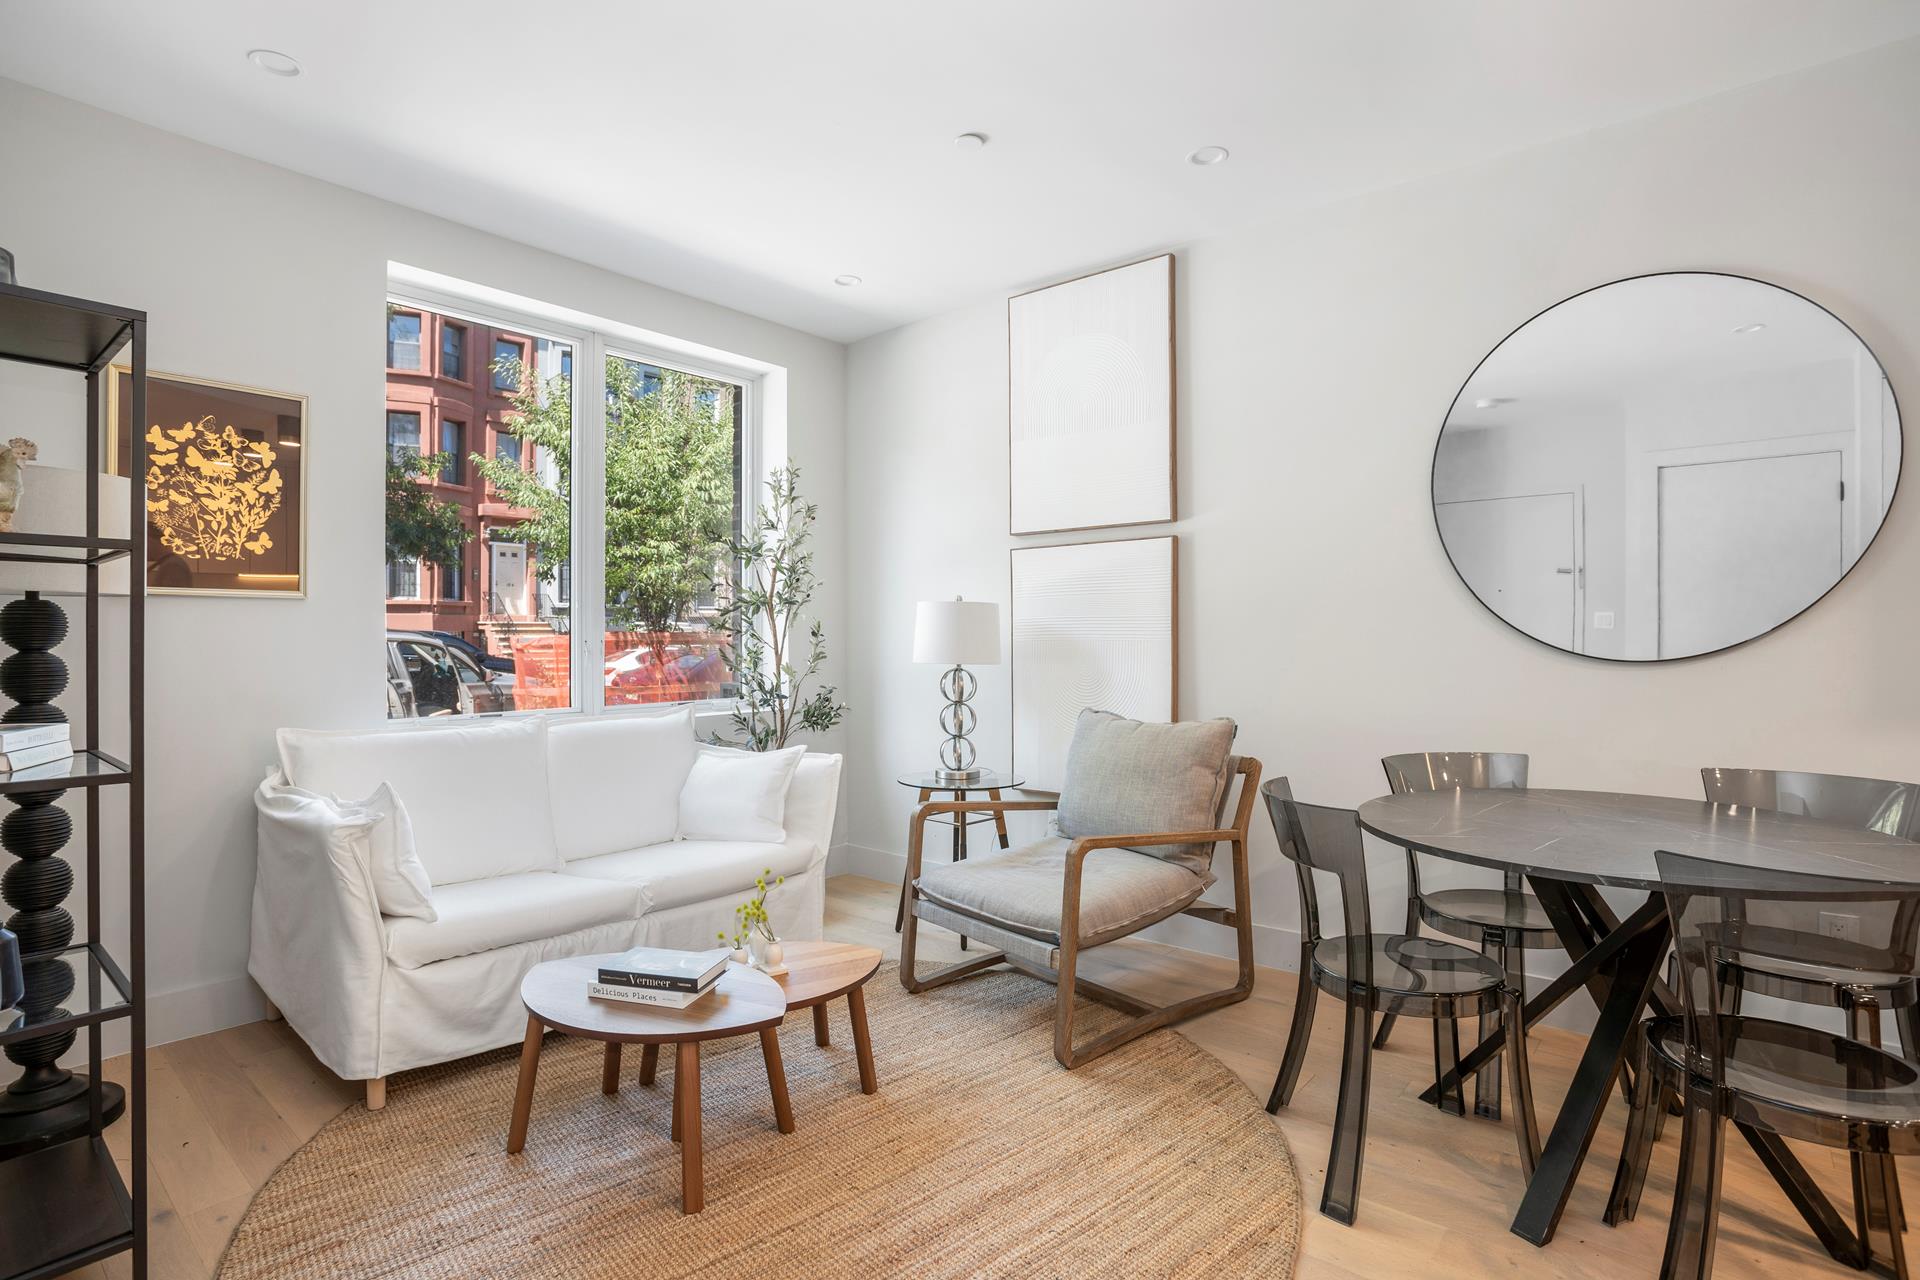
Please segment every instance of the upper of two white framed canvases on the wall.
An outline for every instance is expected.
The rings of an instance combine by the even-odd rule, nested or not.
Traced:
[[[1173,518],[1173,255],[1006,301],[1012,532]]]

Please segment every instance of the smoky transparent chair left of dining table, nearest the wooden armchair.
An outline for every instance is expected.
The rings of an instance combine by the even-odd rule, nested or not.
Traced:
[[[1373,933],[1367,860],[1354,810],[1296,804],[1284,777],[1269,781],[1260,793],[1267,800],[1267,816],[1281,839],[1281,852],[1294,864],[1300,879],[1300,986],[1294,994],[1286,1054],[1273,1079],[1267,1111],[1279,1111],[1292,1102],[1308,1038],[1313,1034],[1317,994],[1325,990],[1346,1002],[1340,1102],[1334,1109],[1321,1213],[1352,1224],[1359,1209],[1359,1167],[1367,1148],[1373,1015],[1432,1019],[1434,1071],[1444,1079],[1459,1061],[1457,1019],[1480,1017],[1501,1007],[1507,1017],[1519,1019],[1521,1000],[1519,992],[1507,986],[1501,967],[1478,952],[1442,938]],[[1332,875],[1340,885],[1340,915],[1346,925],[1342,936],[1329,938],[1321,933],[1315,871]],[[1521,1167],[1530,1178],[1540,1159],[1540,1130],[1534,1121],[1526,1042],[1515,1040],[1505,1059],[1513,1092],[1507,1109],[1513,1113]]]

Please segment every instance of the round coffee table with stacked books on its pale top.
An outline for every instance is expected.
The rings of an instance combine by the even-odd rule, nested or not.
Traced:
[[[607,1042],[601,1092],[620,1092],[620,1046],[645,1046],[639,1082],[653,1084],[660,1046],[674,1046],[674,1142],[680,1144],[680,1211],[699,1213],[707,1197],[701,1173],[701,1042],[760,1032],[766,1082],[774,1094],[774,1121],[780,1132],[793,1132],[793,1103],[787,1102],[787,1073],[780,1065],[780,1023],[787,1017],[787,996],[780,983],[758,969],[730,963],[710,992],[685,1009],[593,1000],[588,984],[599,965],[616,956],[574,956],[549,960],[520,983],[526,1006],[526,1042],[520,1046],[520,1086],[513,1096],[513,1123],[507,1126],[507,1153],[526,1146],[526,1125],[534,1109],[534,1077],[540,1071],[540,1038],[551,1027],[574,1036]],[[864,1019],[856,1023],[862,1027]]]

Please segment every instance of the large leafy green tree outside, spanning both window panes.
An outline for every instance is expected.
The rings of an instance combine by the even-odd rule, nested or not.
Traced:
[[[572,388],[538,384],[511,363],[522,391],[507,430],[553,459],[557,484],[518,462],[474,455],[493,487],[532,518],[493,532],[534,551],[551,581],[572,553]],[[737,391],[672,368],[607,357],[607,626],[647,631],[655,649],[712,589],[733,532]]]

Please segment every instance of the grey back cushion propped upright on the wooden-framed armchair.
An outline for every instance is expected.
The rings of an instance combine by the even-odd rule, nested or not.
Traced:
[[[1060,785],[1064,837],[1206,831],[1229,779],[1231,720],[1146,723],[1085,710]],[[1210,875],[1212,844],[1152,844],[1139,852]]]

